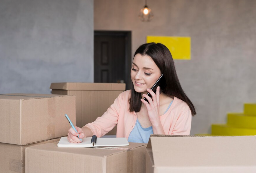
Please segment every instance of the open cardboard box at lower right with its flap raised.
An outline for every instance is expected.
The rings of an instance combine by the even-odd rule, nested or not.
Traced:
[[[146,173],[255,173],[256,136],[152,135]]]

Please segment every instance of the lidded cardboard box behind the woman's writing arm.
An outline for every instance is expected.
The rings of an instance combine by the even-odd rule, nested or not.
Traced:
[[[107,111],[125,83],[51,83],[52,94],[76,96],[76,126],[83,127]],[[116,127],[107,133],[116,135]]]

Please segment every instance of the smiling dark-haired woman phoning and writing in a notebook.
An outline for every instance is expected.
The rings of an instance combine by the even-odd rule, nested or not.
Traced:
[[[157,87],[155,94],[150,88],[162,74],[166,87],[161,88],[161,93]],[[116,137],[125,137],[129,142],[147,143],[150,134],[190,134],[191,117],[196,111],[182,90],[167,47],[160,43],[142,44],[134,53],[131,80],[131,90],[121,93],[101,117],[82,128],[76,127],[78,133],[70,128],[69,142],[79,143],[79,138],[92,135],[101,137],[116,124]]]

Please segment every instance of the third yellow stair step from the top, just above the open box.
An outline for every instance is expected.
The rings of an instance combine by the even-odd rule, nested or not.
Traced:
[[[247,136],[256,135],[256,129],[245,129],[228,126],[226,124],[212,124],[211,135],[213,136]]]

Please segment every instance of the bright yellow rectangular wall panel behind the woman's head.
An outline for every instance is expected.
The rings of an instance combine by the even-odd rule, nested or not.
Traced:
[[[173,59],[191,59],[190,37],[147,36],[147,43],[151,42],[164,44],[170,50]]]

